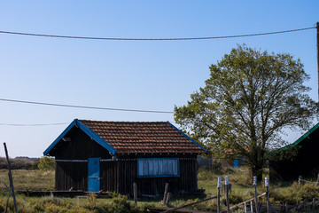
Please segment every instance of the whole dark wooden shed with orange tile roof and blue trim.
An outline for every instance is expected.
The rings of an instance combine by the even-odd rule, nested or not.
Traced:
[[[75,119],[44,155],[56,161],[56,190],[86,192],[195,192],[197,155],[206,149],[170,122]]]

